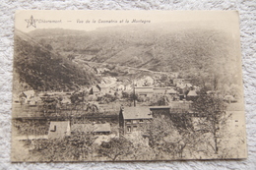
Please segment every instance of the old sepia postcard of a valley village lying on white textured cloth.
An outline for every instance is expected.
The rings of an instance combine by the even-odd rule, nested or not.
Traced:
[[[235,11],[18,11],[13,162],[247,157]]]

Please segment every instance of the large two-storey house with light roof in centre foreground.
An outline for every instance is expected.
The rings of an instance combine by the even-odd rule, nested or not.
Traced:
[[[152,119],[153,115],[149,107],[121,107],[119,112],[119,126],[123,134],[138,132]]]

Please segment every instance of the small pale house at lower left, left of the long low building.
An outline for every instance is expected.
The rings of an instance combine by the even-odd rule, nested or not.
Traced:
[[[70,136],[69,121],[51,121],[48,133],[48,139],[64,139]]]

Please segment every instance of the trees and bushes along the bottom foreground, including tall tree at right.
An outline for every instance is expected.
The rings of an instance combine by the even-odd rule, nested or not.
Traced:
[[[55,140],[28,141],[36,161],[167,160],[239,157],[243,137],[233,136],[226,124],[225,104],[218,96],[200,93],[193,103],[197,116],[156,116],[132,135],[96,143],[98,135],[72,133]],[[121,130],[119,130],[121,131]],[[117,132],[118,134],[118,132]]]

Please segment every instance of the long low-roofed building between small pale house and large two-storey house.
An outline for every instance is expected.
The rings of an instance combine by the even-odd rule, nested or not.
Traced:
[[[105,124],[74,124],[71,127],[71,132],[80,133],[93,133],[100,135],[109,135],[111,133],[111,127],[109,123]]]

